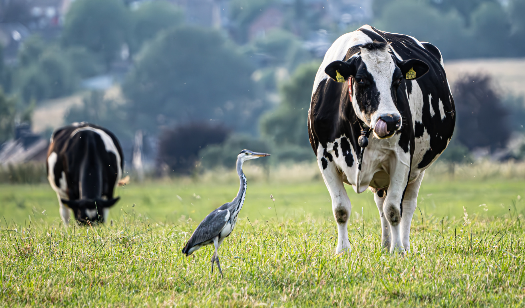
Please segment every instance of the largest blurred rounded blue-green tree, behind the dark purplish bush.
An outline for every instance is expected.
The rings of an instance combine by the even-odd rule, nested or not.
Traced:
[[[215,30],[162,31],[123,84],[130,121],[152,133],[159,125],[211,119],[255,132],[264,105],[253,100],[252,72],[246,57]]]

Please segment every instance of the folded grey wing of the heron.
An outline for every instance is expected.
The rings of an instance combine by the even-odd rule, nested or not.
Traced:
[[[228,209],[221,208],[222,206],[213,210],[212,213],[209,213],[208,216],[201,221],[186,244],[188,248],[199,245],[205,241],[213,240],[224,226],[226,226],[230,213]]]

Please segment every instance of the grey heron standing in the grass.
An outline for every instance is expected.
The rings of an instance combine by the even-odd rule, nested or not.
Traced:
[[[197,226],[193,235],[186,243],[186,246],[182,249],[182,253],[186,254],[186,257],[188,257],[197,249],[213,243],[215,246],[215,253],[212,257],[212,273],[214,262],[217,262],[219,273],[220,275],[223,274],[220,269],[217,249],[223,240],[232,233],[237,222],[237,215],[239,214],[240,209],[243,208],[244,198],[246,196],[246,176],[244,176],[243,173],[243,163],[262,156],[270,156],[270,154],[257,153],[250,150],[240,151],[239,155],[237,155],[237,174],[240,179],[240,187],[237,196],[232,202],[225,203],[214,209],[212,213],[209,213],[208,216],[206,216]]]

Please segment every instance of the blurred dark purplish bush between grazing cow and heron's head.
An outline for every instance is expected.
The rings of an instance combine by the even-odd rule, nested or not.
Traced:
[[[199,151],[207,145],[223,142],[228,133],[224,126],[208,122],[192,122],[164,130],[159,140],[160,163],[169,167],[168,174],[189,174],[196,167]]]

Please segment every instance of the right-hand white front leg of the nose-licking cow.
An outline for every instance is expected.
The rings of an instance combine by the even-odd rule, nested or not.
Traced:
[[[390,230],[390,252],[402,252],[405,250],[401,240],[401,200],[408,182],[410,171],[408,163],[403,158],[393,157],[390,161],[390,185],[383,204],[383,215],[388,221]],[[409,159],[408,159],[409,162]],[[405,213],[403,213],[404,216]],[[412,217],[412,216],[411,216]]]

